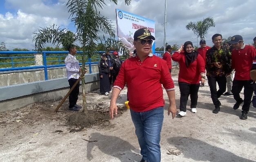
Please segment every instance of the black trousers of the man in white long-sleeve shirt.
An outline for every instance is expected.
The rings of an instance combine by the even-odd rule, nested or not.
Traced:
[[[76,80],[75,78],[70,78],[69,79],[69,89],[72,88],[72,86],[75,84]],[[74,105],[76,105],[77,99],[78,99],[78,94],[79,94],[79,86],[80,83],[76,84],[76,87],[71,91],[69,94],[69,108],[72,108]]]

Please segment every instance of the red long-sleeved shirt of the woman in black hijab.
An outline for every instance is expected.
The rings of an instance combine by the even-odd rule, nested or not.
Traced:
[[[199,81],[201,80],[200,73],[205,73],[205,62],[200,54],[198,54],[196,60],[189,64],[189,67],[185,64],[184,52],[174,52],[171,58],[180,65],[178,82],[199,84]]]

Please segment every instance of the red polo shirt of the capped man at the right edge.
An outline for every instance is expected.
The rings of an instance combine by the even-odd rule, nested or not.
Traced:
[[[234,80],[251,80],[250,70],[256,56],[256,49],[251,45],[243,45],[240,50],[232,50],[232,69],[235,69]]]

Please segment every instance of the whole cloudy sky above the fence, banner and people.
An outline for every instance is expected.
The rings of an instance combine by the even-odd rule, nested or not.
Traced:
[[[121,9],[156,22],[156,47],[163,46],[165,0],[132,0],[125,6],[124,0],[118,5],[107,2],[100,13],[108,16],[116,30],[115,9]],[[68,19],[67,0],[0,0],[0,42],[9,50],[13,48],[34,49],[33,32],[39,27],[57,24],[76,32]],[[242,35],[245,43],[252,44],[256,37],[256,0],[167,0],[166,42],[173,45],[192,41],[197,44],[194,33],[186,30],[189,22],[213,17],[216,23],[209,29],[207,45],[212,46],[211,36],[220,33],[223,38]],[[198,43],[199,43],[198,39]]]

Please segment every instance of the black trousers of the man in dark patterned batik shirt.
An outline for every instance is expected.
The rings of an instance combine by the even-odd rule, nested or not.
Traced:
[[[208,84],[210,86],[212,102],[215,108],[219,108],[220,101],[218,100],[218,98],[226,91],[226,87],[227,87],[226,77],[225,76],[216,76],[216,77],[207,76],[207,79],[208,79]],[[219,86],[218,91],[217,91],[216,83],[218,83],[218,86]]]

